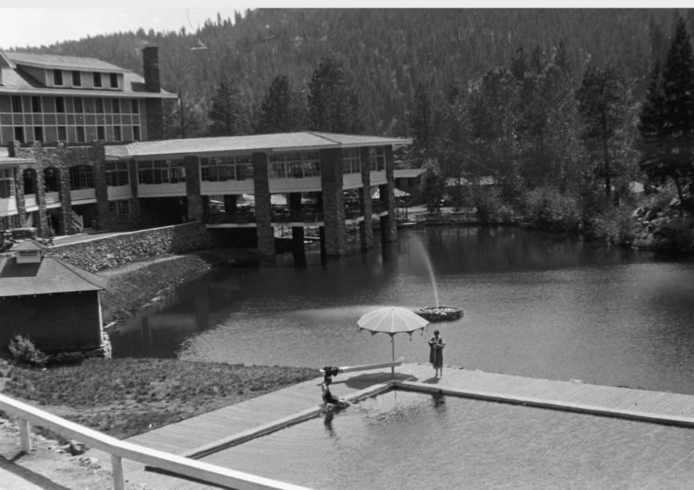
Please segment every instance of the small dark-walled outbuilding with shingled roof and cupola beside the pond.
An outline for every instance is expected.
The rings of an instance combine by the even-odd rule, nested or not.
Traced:
[[[103,280],[48,250],[26,240],[0,256],[0,350],[16,335],[44,353],[102,348]]]

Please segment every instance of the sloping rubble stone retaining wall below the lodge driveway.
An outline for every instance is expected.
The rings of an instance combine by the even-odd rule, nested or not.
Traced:
[[[96,272],[143,257],[211,248],[214,239],[202,223],[163,226],[150,230],[88,239],[51,247],[51,253],[70,264]]]

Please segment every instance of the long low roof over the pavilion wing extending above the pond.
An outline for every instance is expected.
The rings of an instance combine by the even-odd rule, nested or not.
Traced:
[[[251,151],[319,150],[411,143],[412,140],[406,138],[301,132],[133,142],[122,145],[120,148],[117,145],[108,145],[105,147],[105,152],[106,157],[110,159],[153,158],[157,156],[174,158],[185,155],[248,153]],[[125,152],[123,148],[126,149]]]

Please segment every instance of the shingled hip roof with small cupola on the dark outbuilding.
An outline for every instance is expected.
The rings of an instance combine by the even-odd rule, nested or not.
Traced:
[[[17,264],[11,254],[0,257],[0,297],[99,291],[104,286],[103,278],[51,255],[29,264]]]

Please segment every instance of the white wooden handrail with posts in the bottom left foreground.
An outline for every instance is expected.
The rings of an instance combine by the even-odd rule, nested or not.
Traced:
[[[29,437],[29,422],[31,422],[57,432],[62,437],[76,439],[87,443],[88,446],[109,453],[113,467],[113,486],[115,490],[125,489],[122,458],[220,487],[238,490],[309,490],[307,487],[301,487],[288,482],[251,475],[251,473],[223,468],[216,464],[205,463],[196,459],[166,453],[158,449],[146,448],[135,443],[121,441],[97,430],[87,428],[84,425],[79,425],[49,412],[44,412],[42,409],[32,407],[3,394],[0,394],[0,410],[16,415],[19,418],[19,437],[22,441],[23,451],[31,450],[31,438]]]

